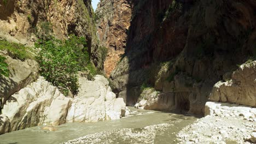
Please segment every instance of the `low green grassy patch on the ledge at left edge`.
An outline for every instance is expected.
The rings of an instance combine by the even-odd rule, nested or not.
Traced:
[[[6,40],[0,40],[0,50],[7,50],[10,56],[15,59],[20,59],[24,61],[26,58],[32,58],[32,56],[27,51],[30,47],[25,47],[22,44],[10,43]]]

